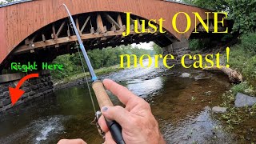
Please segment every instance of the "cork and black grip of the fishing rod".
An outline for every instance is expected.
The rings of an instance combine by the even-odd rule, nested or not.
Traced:
[[[106,90],[101,81],[93,82],[92,87],[94,89],[100,109],[102,109],[103,106],[114,106],[110,100],[110,97],[106,94]],[[111,121],[106,118],[105,120],[114,142],[117,144],[125,144],[126,142],[122,138],[122,127],[118,124],[118,122]]]

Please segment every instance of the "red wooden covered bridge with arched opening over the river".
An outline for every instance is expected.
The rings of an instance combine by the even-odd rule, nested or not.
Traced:
[[[190,38],[195,26],[200,34],[205,34],[199,21],[195,23],[194,14],[198,12],[206,20],[205,10],[181,3],[163,0],[26,0],[0,7],[0,72],[10,67],[10,62],[38,61],[51,62],[61,54],[76,52],[74,36],[66,10],[69,7],[86,49],[106,46],[127,45],[130,43],[153,41],[166,47],[182,38]],[[178,34],[172,26],[172,18],[178,12],[190,15],[191,26],[186,34]],[[122,37],[126,30],[126,14],[131,12],[132,20],[164,18],[166,34],[135,34]],[[213,15],[210,14],[210,18]],[[186,30],[186,16],[177,18],[178,30]],[[134,23],[131,23],[131,31]],[[210,31],[213,31],[210,21]],[[219,29],[226,30],[224,27]],[[193,35],[193,34],[192,34]],[[210,36],[212,34],[206,34]],[[167,48],[168,50],[168,48]]]

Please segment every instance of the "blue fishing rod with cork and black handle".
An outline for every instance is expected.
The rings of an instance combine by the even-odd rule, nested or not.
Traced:
[[[92,87],[93,87],[94,93],[96,95],[100,109],[102,109],[103,106],[114,106],[110,100],[110,97],[108,96],[108,94],[106,94],[106,90],[105,90],[102,82],[98,80],[96,74],[94,73],[94,68],[93,68],[93,66],[91,66],[90,59],[88,58],[85,46],[82,43],[80,34],[78,33],[78,29],[76,28],[76,26],[74,24],[74,19],[72,18],[71,14],[70,14],[70,10],[67,8],[67,6],[64,3],[62,5],[65,6],[66,11],[69,14],[70,21],[72,23],[74,32],[78,38],[78,42],[79,42],[80,48],[82,50],[82,54],[86,60],[87,66],[89,68],[91,79],[93,81]],[[105,120],[106,120],[106,125],[108,126],[110,133],[112,135],[112,138],[114,139],[114,142],[116,142],[117,144],[125,144],[126,142],[122,138],[122,127],[118,124],[118,122],[115,122],[115,121],[112,121],[112,120],[109,120],[106,118],[105,118]]]

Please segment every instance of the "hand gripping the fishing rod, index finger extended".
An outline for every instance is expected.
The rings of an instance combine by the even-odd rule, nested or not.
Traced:
[[[102,114],[105,118],[115,120],[122,126],[122,136],[126,144],[166,143],[159,131],[158,122],[151,113],[149,103],[112,80],[105,79],[103,84],[126,106],[125,108],[122,106],[102,107]],[[106,133],[105,143],[115,143],[103,116],[99,118],[98,123]]]

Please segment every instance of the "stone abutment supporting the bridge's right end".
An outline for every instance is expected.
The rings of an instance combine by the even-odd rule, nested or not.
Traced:
[[[182,42],[174,42],[169,46],[163,48],[163,55],[172,54],[174,55],[174,60],[169,60],[168,63],[181,63],[184,54],[190,54],[189,41],[184,40]],[[190,61],[185,59],[186,63]]]

